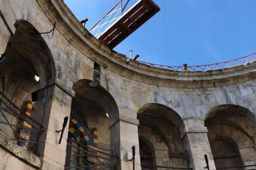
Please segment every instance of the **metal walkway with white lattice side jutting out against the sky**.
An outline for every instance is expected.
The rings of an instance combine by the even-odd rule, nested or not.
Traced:
[[[138,29],[160,11],[152,0],[139,0],[124,14],[123,0],[120,0],[89,31],[109,48],[115,48],[120,42]]]

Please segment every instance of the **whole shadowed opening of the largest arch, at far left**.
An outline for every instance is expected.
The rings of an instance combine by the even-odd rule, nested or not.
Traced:
[[[32,128],[42,128],[46,129],[49,123],[48,110],[45,108],[50,105],[50,88],[49,85],[52,85],[55,82],[55,64],[49,47],[47,46],[45,40],[39,34],[37,29],[29,23],[27,20],[16,20],[14,23],[16,31],[13,35],[9,37],[4,56],[5,59],[0,63],[0,90],[5,96],[12,101],[7,105],[12,105],[12,107],[18,107],[23,109],[27,107],[36,112],[33,114],[32,111],[28,117],[32,117],[36,121],[30,121],[30,125],[27,124],[27,127]],[[35,75],[39,76],[39,81],[35,80]],[[32,96],[31,93],[35,91],[40,91],[40,97],[36,97],[36,105],[31,102]],[[0,95],[2,98],[3,96]],[[33,107],[28,104],[32,104]],[[7,107],[6,104],[0,102],[1,109]],[[11,124],[21,127],[23,124],[26,124],[26,121],[19,121],[17,117],[10,116],[8,111],[3,111],[2,115],[7,115],[7,119],[10,119]],[[2,117],[1,117],[2,118]],[[27,118],[27,117],[25,117]],[[25,126],[25,125],[24,125]],[[11,134],[9,133],[9,127],[2,127],[1,129],[7,133],[9,137],[23,136],[22,139],[18,137],[20,141],[26,139],[31,141],[28,144],[29,150],[36,153],[37,155],[43,155],[44,144],[36,146],[32,142],[44,143],[45,138],[39,138],[39,134],[29,134],[26,132],[26,138],[22,134],[22,129],[16,129],[20,134]],[[13,130],[14,131],[14,130]],[[27,138],[27,136],[30,138]],[[41,135],[44,136],[44,135]],[[18,142],[19,145],[21,145]],[[22,144],[24,145],[24,144]]]

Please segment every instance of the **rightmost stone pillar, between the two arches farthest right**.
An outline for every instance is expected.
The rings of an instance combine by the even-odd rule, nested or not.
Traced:
[[[186,153],[187,163],[193,170],[204,170],[206,161],[204,155],[209,160],[209,169],[215,170],[214,159],[207,137],[207,128],[204,121],[199,118],[184,120],[185,127],[181,130],[182,144]]]

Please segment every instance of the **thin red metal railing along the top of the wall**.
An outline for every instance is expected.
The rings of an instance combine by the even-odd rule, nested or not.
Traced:
[[[127,59],[129,59],[127,57]],[[168,66],[168,65],[161,65],[161,64],[154,64],[154,63],[148,63],[143,61],[137,61],[141,64],[145,64],[151,67],[155,68],[162,68],[166,70],[174,70],[174,71],[207,71],[207,70],[214,70],[214,69],[223,69],[235,65],[241,65],[245,64],[247,62],[256,60],[256,53],[250,54],[248,56],[243,56],[237,59],[228,60],[225,62],[219,62],[219,63],[212,63],[212,64],[206,64],[206,65],[193,65],[193,66]]]

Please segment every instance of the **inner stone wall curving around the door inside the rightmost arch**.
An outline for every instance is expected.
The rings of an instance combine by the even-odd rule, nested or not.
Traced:
[[[217,123],[218,122],[218,123]],[[233,141],[239,151],[240,159],[245,165],[256,162],[255,131],[256,125],[247,117],[231,116],[207,125],[209,142],[216,139]],[[248,167],[247,169],[254,169]]]

